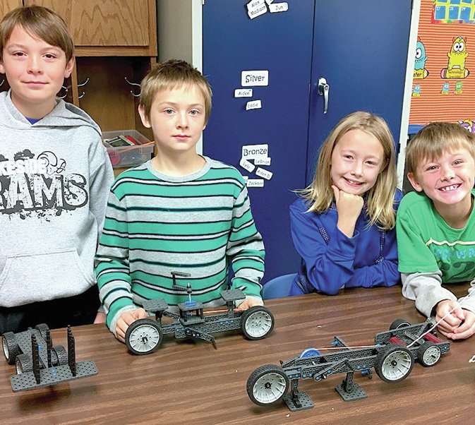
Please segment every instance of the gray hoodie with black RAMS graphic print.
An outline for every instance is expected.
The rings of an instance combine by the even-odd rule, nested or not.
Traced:
[[[59,100],[35,124],[0,93],[0,306],[95,285],[112,166],[100,128]]]

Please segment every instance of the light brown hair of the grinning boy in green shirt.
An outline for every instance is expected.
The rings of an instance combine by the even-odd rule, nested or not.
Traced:
[[[416,175],[423,160],[434,160],[445,152],[463,148],[475,160],[475,135],[459,124],[433,122],[427,124],[406,148],[406,171]]]

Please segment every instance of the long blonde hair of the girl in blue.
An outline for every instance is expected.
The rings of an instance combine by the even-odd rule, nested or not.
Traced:
[[[370,226],[377,225],[383,230],[392,229],[396,223],[393,206],[397,186],[395,143],[386,121],[375,114],[358,111],[339,121],[320,148],[312,183],[298,192],[310,204],[307,212],[315,211],[321,214],[329,210],[334,198],[330,176],[332,152],[339,139],[351,130],[371,134],[383,146],[385,164],[374,186],[366,192],[366,214]]]

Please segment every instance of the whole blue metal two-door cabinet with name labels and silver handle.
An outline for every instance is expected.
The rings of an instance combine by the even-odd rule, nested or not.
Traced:
[[[203,152],[239,165],[243,145],[267,144],[272,179],[248,188],[266,250],[264,282],[299,265],[289,229],[294,189],[311,179],[315,150],[345,114],[382,115],[397,138],[402,113],[411,0],[287,0],[288,11],[248,16],[250,0],[206,0],[203,73],[213,107]],[[275,3],[283,3],[277,2]],[[268,85],[234,97],[241,71],[268,71]],[[330,85],[327,114],[317,94]],[[246,111],[249,100],[260,109]]]

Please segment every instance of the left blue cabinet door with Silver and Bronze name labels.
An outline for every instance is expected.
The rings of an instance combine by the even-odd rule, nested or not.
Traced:
[[[239,166],[243,145],[269,146],[272,179],[248,188],[251,208],[263,235],[265,279],[296,270],[289,228],[292,190],[305,184],[314,0],[287,0],[284,13],[249,18],[243,0],[206,0],[203,6],[203,73],[213,98],[203,153]],[[267,86],[253,86],[252,97],[234,97],[241,71],[269,71]],[[246,111],[250,100],[260,109]]]

